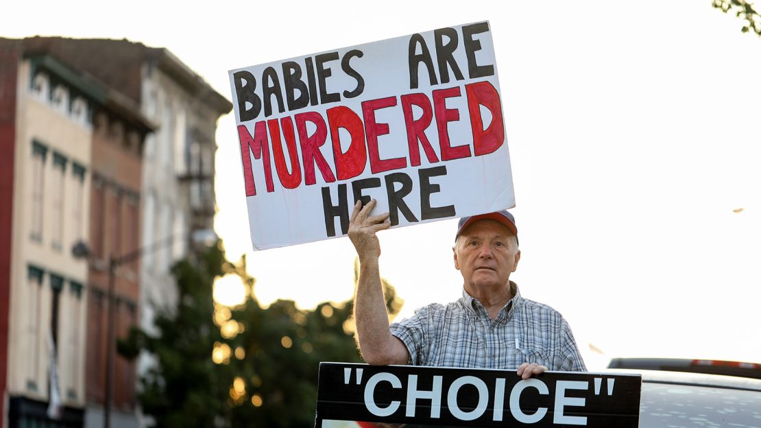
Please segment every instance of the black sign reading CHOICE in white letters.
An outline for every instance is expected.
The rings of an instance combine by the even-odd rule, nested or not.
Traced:
[[[316,428],[637,428],[640,375],[320,363]]]

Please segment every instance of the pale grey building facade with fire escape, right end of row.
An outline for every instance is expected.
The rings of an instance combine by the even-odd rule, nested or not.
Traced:
[[[143,112],[160,124],[146,142],[143,240],[173,241],[144,260],[142,281],[150,285],[143,294],[142,324],[151,331],[155,311],[177,303],[172,264],[198,238],[213,235],[216,124],[232,106],[166,50],[154,51],[143,63],[141,92]],[[149,364],[144,357],[142,366]]]

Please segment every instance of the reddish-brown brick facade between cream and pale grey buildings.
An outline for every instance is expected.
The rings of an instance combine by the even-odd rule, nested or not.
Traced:
[[[116,337],[139,325],[142,152],[152,126],[139,106],[94,116],[88,273],[86,426],[136,426],[135,363],[116,353]],[[110,407],[104,408],[106,402]]]

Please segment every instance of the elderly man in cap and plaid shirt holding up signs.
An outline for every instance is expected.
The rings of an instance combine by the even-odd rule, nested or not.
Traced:
[[[463,275],[463,297],[431,304],[389,326],[380,286],[376,232],[389,214],[370,216],[376,202],[354,207],[349,238],[360,272],[355,321],[362,356],[370,364],[517,369],[521,378],[545,370],[586,371],[571,328],[547,305],[521,298],[510,280],[521,251],[510,212],[463,217],[457,228],[454,267]]]

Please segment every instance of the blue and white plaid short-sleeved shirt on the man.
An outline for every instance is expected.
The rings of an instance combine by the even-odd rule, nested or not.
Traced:
[[[492,320],[477,299],[463,297],[448,305],[433,303],[391,324],[416,366],[517,369],[540,363],[549,370],[585,372],[568,322],[555,309],[514,297]]]

